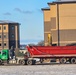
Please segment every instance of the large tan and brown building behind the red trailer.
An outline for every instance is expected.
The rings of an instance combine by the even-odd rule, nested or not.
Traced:
[[[76,43],[76,1],[48,3],[44,12],[44,43],[48,45],[48,34],[51,43],[64,46]]]

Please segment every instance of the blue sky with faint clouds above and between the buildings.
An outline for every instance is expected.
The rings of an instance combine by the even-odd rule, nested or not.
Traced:
[[[0,20],[19,22],[20,43],[44,40],[44,22],[41,8],[54,0],[0,0]]]

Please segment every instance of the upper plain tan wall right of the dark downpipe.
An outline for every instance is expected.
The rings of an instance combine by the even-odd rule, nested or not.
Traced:
[[[76,3],[59,4],[60,29],[76,29]]]

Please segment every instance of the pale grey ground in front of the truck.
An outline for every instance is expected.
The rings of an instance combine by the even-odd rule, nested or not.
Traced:
[[[2,65],[0,75],[76,75],[76,64]]]

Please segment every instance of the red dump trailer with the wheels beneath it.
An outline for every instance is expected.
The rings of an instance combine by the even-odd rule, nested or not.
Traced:
[[[64,63],[76,63],[76,46],[27,46],[28,53],[22,60],[22,64],[34,65],[36,59],[43,63],[52,59]]]

